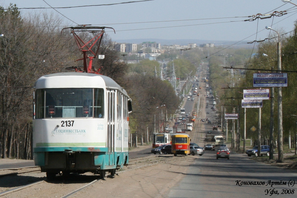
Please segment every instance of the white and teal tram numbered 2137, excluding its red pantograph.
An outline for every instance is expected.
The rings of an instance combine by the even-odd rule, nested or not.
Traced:
[[[33,151],[48,178],[93,172],[114,175],[128,164],[127,92],[103,75],[66,72],[34,85]]]

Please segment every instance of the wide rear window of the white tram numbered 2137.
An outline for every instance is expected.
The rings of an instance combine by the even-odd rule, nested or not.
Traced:
[[[100,88],[36,90],[36,119],[104,117],[104,91]]]

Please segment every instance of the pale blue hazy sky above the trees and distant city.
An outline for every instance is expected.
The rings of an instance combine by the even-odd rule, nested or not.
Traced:
[[[297,4],[297,0],[291,2]],[[24,17],[34,12],[52,12],[66,27],[82,24],[112,27],[116,34],[109,29],[106,32],[113,41],[156,38],[258,41],[270,34],[265,26],[279,34],[288,33],[297,19],[297,6],[281,0],[0,0],[4,8],[10,3],[18,8],[38,8],[20,9]],[[78,7],[58,8],[74,6]],[[273,16],[274,11],[277,15],[287,14]],[[253,20],[257,14],[262,19]]]

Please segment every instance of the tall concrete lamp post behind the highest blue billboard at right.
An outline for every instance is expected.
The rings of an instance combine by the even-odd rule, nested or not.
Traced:
[[[265,27],[268,30],[275,31],[271,27]],[[280,49],[280,41],[279,41],[279,33],[275,31],[278,35],[277,42],[277,70],[281,73],[282,70],[282,62],[281,62],[281,49]],[[278,162],[284,161],[284,153],[283,153],[283,141],[282,141],[282,87],[278,87],[277,89],[277,131],[278,131]]]

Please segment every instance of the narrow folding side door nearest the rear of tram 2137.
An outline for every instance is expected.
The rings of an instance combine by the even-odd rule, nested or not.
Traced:
[[[115,134],[115,94],[114,90],[107,90],[107,147],[109,164],[114,164],[114,134]]]

